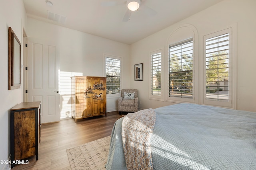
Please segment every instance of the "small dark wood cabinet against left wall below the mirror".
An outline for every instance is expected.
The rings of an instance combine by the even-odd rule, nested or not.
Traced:
[[[10,150],[13,168],[16,160],[34,155],[38,160],[41,102],[23,102],[10,110]]]

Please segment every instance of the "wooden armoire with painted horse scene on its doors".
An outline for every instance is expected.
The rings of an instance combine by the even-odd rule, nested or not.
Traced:
[[[71,77],[71,107],[72,118],[105,115],[106,106],[106,77],[72,76]]]

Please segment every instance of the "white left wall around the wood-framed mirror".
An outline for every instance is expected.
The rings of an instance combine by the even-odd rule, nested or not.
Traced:
[[[1,1],[0,5],[0,160],[10,156],[10,109],[22,102],[21,89],[8,90],[8,27],[22,43],[22,30],[26,29],[26,14],[22,0]],[[0,164],[0,169],[9,168]]]

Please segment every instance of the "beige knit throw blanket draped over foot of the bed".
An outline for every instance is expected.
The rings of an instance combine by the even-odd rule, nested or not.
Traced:
[[[122,121],[122,140],[128,170],[152,170],[150,137],[156,123],[153,109],[128,113]]]

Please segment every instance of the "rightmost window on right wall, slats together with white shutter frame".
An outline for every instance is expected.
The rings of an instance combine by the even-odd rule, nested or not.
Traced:
[[[204,36],[204,104],[232,107],[231,30]]]

